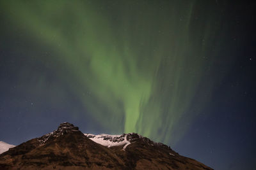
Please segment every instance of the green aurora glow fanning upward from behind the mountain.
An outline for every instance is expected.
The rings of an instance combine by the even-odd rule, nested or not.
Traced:
[[[86,114],[110,132],[175,143],[207,103],[204,94],[211,94],[216,80],[204,87],[200,81],[213,60],[205,56],[214,55],[209,49],[221,20],[205,9],[197,21],[198,1],[0,5],[5,19],[28,39],[54,50],[55,55],[37,60],[57,60],[65,67],[67,73],[56,68],[56,74],[69,79],[68,88]],[[200,106],[194,107],[196,102]]]

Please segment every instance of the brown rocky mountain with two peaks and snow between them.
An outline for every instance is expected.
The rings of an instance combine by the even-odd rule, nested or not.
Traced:
[[[67,122],[10,148],[0,169],[211,169],[139,134],[83,134]]]

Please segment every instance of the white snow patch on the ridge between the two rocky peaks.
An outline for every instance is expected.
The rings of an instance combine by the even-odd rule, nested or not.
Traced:
[[[95,143],[99,143],[102,146],[107,146],[108,148],[113,146],[123,146],[123,150],[131,143],[127,140],[127,134],[84,134],[87,138],[91,139]]]

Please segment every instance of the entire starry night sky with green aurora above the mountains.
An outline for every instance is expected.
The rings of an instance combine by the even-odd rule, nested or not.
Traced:
[[[255,169],[255,8],[0,1],[0,141],[70,122],[138,132],[214,169]]]

